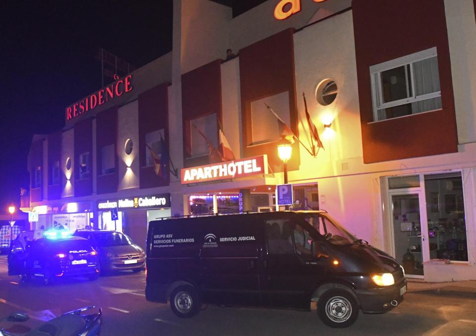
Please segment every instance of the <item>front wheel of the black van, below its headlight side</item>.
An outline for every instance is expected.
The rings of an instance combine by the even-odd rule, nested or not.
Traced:
[[[344,289],[328,290],[317,301],[319,318],[331,328],[347,328],[354,324],[358,309],[354,296]]]

